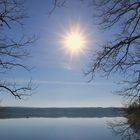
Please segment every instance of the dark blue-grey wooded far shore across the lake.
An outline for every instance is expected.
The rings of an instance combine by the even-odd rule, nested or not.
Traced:
[[[8,118],[102,118],[123,117],[124,108],[118,107],[0,107],[0,119]]]

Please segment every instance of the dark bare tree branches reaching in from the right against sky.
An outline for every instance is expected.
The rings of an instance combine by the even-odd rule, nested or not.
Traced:
[[[117,92],[129,102],[140,97],[140,1],[91,0],[95,17],[103,30],[117,28],[110,42],[102,44],[93,55],[90,69],[92,79],[96,72],[110,76],[124,75],[123,88]]]

